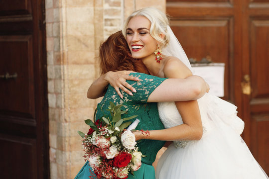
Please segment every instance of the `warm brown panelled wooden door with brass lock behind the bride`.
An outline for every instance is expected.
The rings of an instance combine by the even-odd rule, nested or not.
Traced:
[[[269,174],[269,0],[167,0],[166,5],[189,58],[225,63],[223,99],[238,106],[243,138]]]

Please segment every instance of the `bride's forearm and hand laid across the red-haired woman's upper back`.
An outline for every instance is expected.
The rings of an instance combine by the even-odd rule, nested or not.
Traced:
[[[104,96],[105,89],[109,84],[111,84],[111,86],[116,89],[117,93],[121,96],[121,98],[123,98],[123,95],[120,92],[120,89],[130,95],[133,95],[132,92],[128,89],[131,89],[133,92],[136,91],[131,85],[126,82],[126,80],[138,81],[139,79],[133,76],[129,76],[130,73],[133,73],[133,71],[107,72],[105,75],[102,75],[92,83],[92,85],[88,89],[87,97],[91,99],[96,99],[98,97]]]

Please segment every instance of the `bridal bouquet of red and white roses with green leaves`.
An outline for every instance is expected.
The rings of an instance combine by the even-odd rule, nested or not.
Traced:
[[[110,102],[107,110],[110,111],[111,118],[103,116],[95,123],[87,119],[85,123],[91,127],[89,132],[84,134],[78,131],[83,138],[85,161],[89,161],[98,178],[127,179],[129,173],[133,174],[141,166],[142,153],[138,152],[134,134],[131,132],[139,120],[136,119],[133,124],[131,121],[123,123],[136,116],[121,118],[127,112],[122,111],[121,107],[122,105]]]

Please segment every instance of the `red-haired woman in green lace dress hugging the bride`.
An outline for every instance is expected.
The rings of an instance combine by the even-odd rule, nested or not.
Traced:
[[[137,70],[143,72],[143,66],[139,65],[139,62],[134,62],[134,59],[128,53],[127,45],[122,43],[126,43],[126,41],[122,33],[117,32],[101,45],[100,69],[102,74],[118,70]],[[109,115],[109,112],[105,109],[108,108],[109,102],[112,101],[115,104],[123,104],[128,109],[128,113],[124,114],[125,116],[123,117],[137,115],[136,118],[140,122],[135,129],[161,130],[164,127],[159,120],[156,102],[194,100],[201,97],[208,90],[207,84],[198,76],[191,76],[187,79],[165,79],[143,73],[131,73],[130,75],[133,77],[130,76],[130,80],[127,82],[136,89],[136,92],[133,95],[123,93],[122,97],[120,97],[117,91],[109,85],[103,100],[97,105],[96,119],[99,119],[104,113]],[[137,79],[139,81],[131,81]],[[98,84],[100,81],[104,83],[104,80],[99,80],[94,84]],[[130,174],[128,179],[155,179],[152,163],[163,145],[164,141],[140,140],[137,146],[145,157],[142,158],[140,169],[135,171],[134,175]],[[89,179],[89,177],[92,179],[96,178],[87,161],[75,179]]]

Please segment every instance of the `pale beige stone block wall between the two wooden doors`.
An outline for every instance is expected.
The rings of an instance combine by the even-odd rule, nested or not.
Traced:
[[[97,103],[98,49],[135,9],[165,10],[165,0],[45,0],[51,179],[74,179],[84,164],[81,137]]]

